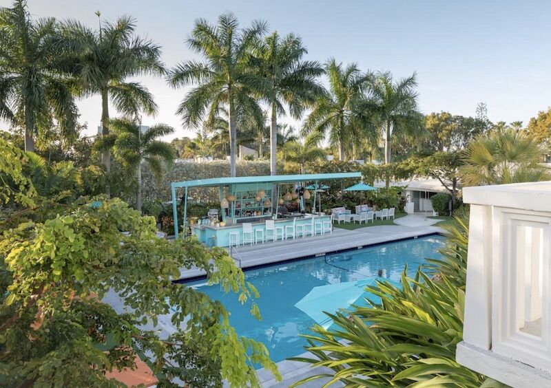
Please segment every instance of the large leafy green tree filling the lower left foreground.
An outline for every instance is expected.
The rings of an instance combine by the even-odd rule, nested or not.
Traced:
[[[238,336],[221,303],[171,281],[181,268],[202,268],[260,318],[258,292],[225,250],[160,239],[153,217],[118,198],[42,197],[25,176],[27,158],[0,139],[1,385],[118,387],[105,373],[134,367],[134,352],[148,355],[163,386],[176,377],[258,387],[255,364],[279,376],[266,347]],[[125,313],[101,301],[108,291]],[[144,329],[165,314],[174,334]]]

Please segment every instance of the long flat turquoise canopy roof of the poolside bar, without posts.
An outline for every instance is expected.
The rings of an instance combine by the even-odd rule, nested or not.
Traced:
[[[346,178],[361,178],[362,173],[329,173],[329,174],[296,174],[296,175],[261,175],[247,177],[216,177],[210,179],[187,180],[185,182],[172,182],[172,188],[179,187],[208,187],[228,186],[242,183],[291,183],[299,181],[335,180]]]

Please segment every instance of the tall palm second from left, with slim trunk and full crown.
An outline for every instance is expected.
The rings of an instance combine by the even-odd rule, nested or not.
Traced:
[[[100,12],[96,12],[98,18]],[[67,21],[59,45],[72,54],[67,65],[79,78],[84,96],[101,96],[101,135],[109,135],[109,103],[127,116],[137,116],[141,111],[154,115],[157,105],[146,87],[126,79],[143,74],[162,75],[165,68],[160,61],[160,46],[134,34],[136,23],[132,17],[123,16],[115,23],[99,19],[98,30]],[[110,168],[110,149],[104,149],[101,160],[107,172]]]

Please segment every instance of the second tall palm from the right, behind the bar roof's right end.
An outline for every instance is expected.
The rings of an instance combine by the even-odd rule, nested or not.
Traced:
[[[331,59],[326,64],[329,93],[315,101],[311,114],[304,122],[305,134],[329,131],[331,145],[339,149],[339,160],[344,160],[346,140],[353,133],[368,135],[370,127],[360,111],[362,89],[369,78],[355,63],[344,67]]]

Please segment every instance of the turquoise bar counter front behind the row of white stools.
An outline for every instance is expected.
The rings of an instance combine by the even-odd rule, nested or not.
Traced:
[[[288,217],[288,218],[278,218],[275,219],[275,228],[285,228],[285,226],[293,226],[293,221],[296,219],[295,226],[310,224],[313,228],[313,223],[316,222],[331,222],[331,216],[329,215],[312,215],[306,214],[301,215],[300,217]],[[264,239],[266,238],[266,222],[264,219],[257,222],[250,222],[253,226],[253,239],[256,235],[256,230],[263,230]],[[199,241],[206,244],[209,247],[220,246],[225,247],[229,246],[229,233],[238,232],[239,233],[239,244],[242,245],[243,241],[243,224],[231,224],[225,226],[212,226],[212,225],[190,225],[191,234],[196,236]],[[310,229],[308,229],[310,231]],[[278,236],[280,237],[280,236]],[[291,238],[291,237],[289,237]],[[260,241],[259,241],[260,244]]]

